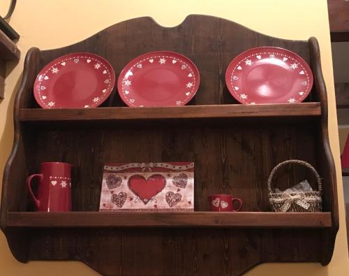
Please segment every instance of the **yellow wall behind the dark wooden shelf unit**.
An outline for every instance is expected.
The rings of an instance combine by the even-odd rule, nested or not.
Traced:
[[[2,1],[0,12],[8,3]],[[8,1],[9,2],[9,1]],[[191,13],[216,15],[271,36],[306,40],[316,36],[320,43],[322,68],[329,98],[329,136],[336,161],[339,212],[344,221],[343,187],[339,164],[339,140],[336,126],[331,45],[326,0],[22,0],[17,1],[10,24],[20,33],[20,63],[10,64],[6,78],[6,99],[0,103],[0,178],[13,143],[13,100],[23,70],[24,55],[31,46],[40,49],[69,45],[133,17],[150,15],[164,26],[179,24]],[[346,230],[341,223],[334,256],[329,266],[318,263],[263,264],[246,275],[349,275]],[[18,263],[10,254],[6,239],[0,234],[0,275],[97,275],[78,262]]]

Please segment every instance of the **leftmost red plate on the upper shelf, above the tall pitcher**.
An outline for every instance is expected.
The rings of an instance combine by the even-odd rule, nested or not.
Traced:
[[[40,71],[34,96],[42,108],[94,108],[107,99],[114,84],[114,70],[103,57],[75,52]]]

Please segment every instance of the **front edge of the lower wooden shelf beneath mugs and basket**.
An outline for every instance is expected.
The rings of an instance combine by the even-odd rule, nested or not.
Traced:
[[[331,212],[8,212],[8,227],[325,228]]]

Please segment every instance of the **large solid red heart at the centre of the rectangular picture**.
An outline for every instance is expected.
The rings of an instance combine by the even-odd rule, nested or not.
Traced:
[[[151,175],[146,180],[142,175],[133,175],[128,179],[128,188],[147,204],[165,188],[166,180],[163,175]]]

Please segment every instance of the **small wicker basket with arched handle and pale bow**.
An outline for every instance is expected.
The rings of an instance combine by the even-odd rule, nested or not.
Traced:
[[[314,173],[316,180],[318,180],[318,191],[308,191],[302,193],[287,194],[283,191],[276,193],[272,191],[272,180],[276,173],[276,170],[286,164],[300,164],[311,169]],[[268,191],[269,202],[272,206],[273,212],[321,212],[322,210],[322,183],[318,172],[311,166],[302,160],[287,160],[281,162],[275,168],[268,178]]]

